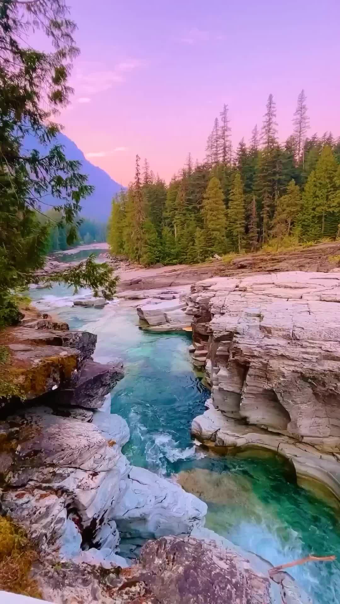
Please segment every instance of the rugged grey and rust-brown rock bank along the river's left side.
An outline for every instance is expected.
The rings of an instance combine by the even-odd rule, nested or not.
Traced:
[[[39,551],[33,574],[42,596],[60,604],[222,604],[229,590],[244,604],[281,604],[289,590],[292,602],[307,602],[287,574],[269,579],[269,564],[206,531],[205,503],[128,462],[129,429],[110,413],[108,394],[122,364],[94,362],[95,345],[93,334],[49,316],[2,335],[10,359],[1,370],[1,510]],[[146,539],[159,541],[128,568]]]

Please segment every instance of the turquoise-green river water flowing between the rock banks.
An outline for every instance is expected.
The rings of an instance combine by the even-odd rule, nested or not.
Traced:
[[[111,410],[125,417],[131,430],[123,451],[136,465],[179,474],[181,484],[208,504],[208,528],[273,564],[309,553],[340,556],[334,510],[296,486],[285,464],[221,458],[194,445],[189,428],[203,413],[209,392],[192,371],[188,335],[142,332],[136,310],[122,301],[101,310],[72,307],[70,292],[60,286],[32,296],[70,327],[96,333],[97,361],[122,358],[125,377],[113,390]],[[338,604],[338,561],[306,564],[291,573],[315,604]]]

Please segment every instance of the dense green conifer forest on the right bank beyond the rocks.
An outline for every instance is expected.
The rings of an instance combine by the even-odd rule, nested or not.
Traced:
[[[145,159],[112,204],[113,254],[145,265],[203,262],[214,254],[279,248],[340,234],[340,138],[307,137],[306,95],[298,95],[292,133],[278,138],[270,94],[261,128],[232,149],[229,109],[215,118],[204,161],[191,153],[169,185]]]

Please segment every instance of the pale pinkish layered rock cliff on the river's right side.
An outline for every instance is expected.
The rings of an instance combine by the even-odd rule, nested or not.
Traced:
[[[192,433],[272,449],[340,499],[339,302],[338,274],[282,272],[201,281],[186,312],[212,388]]]

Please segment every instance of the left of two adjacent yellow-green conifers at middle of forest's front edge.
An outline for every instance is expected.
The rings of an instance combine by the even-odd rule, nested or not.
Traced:
[[[215,176],[209,181],[204,193],[202,217],[206,257],[223,254],[226,249],[226,208],[221,183]]]

